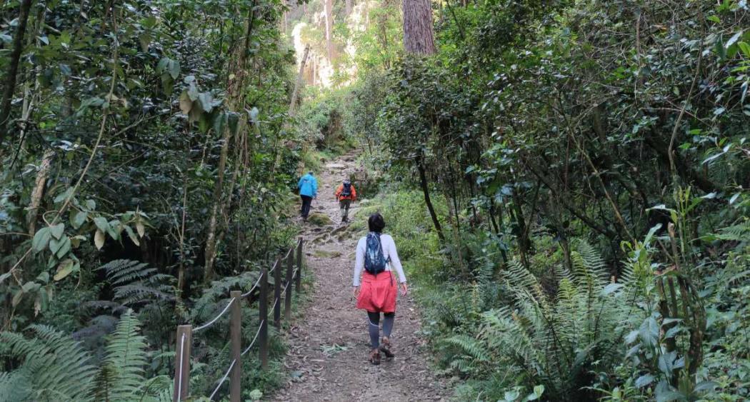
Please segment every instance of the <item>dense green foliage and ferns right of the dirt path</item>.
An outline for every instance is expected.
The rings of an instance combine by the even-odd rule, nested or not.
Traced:
[[[386,211],[437,237],[410,266],[460,398],[748,398],[746,2],[434,10],[356,130],[421,190]]]

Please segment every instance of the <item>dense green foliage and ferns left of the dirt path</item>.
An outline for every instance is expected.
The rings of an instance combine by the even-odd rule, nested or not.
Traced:
[[[212,317],[290,241],[276,200],[301,147],[286,125],[296,71],[283,11],[2,2],[0,399],[171,398],[175,326]],[[228,361],[226,331],[205,339],[193,395]],[[256,364],[254,387],[278,383],[278,363]]]

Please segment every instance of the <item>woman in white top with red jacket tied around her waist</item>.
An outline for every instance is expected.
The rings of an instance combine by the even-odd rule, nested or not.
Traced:
[[[401,296],[407,296],[407,278],[398,259],[393,238],[383,234],[386,222],[380,214],[372,214],[368,219],[370,233],[357,243],[354,264],[354,297],[357,308],[368,312],[368,332],[370,333],[370,362],[380,365],[380,353],[393,357],[391,351],[391,331],[396,314],[396,280],[392,267],[398,272],[401,282]],[[362,272],[362,269],[365,272]],[[360,290],[359,276],[362,275]],[[380,313],[383,313],[383,341],[380,341]]]

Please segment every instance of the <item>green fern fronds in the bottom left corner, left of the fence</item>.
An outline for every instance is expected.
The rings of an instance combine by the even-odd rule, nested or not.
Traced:
[[[145,338],[133,311],[120,318],[107,342],[100,368],[68,335],[46,326],[31,326],[34,338],[0,333],[20,366],[0,373],[0,401],[171,401],[167,377],[145,378]]]

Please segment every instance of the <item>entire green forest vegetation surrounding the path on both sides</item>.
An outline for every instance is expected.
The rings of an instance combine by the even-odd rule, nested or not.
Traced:
[[[400,1],[286,4],[0,6],[0,398],[170,398],[174,325],[252,286],[299,164],[358,137],[354,213],[458,399],[750,398],[747,1],[433,1],[420,56]]]

